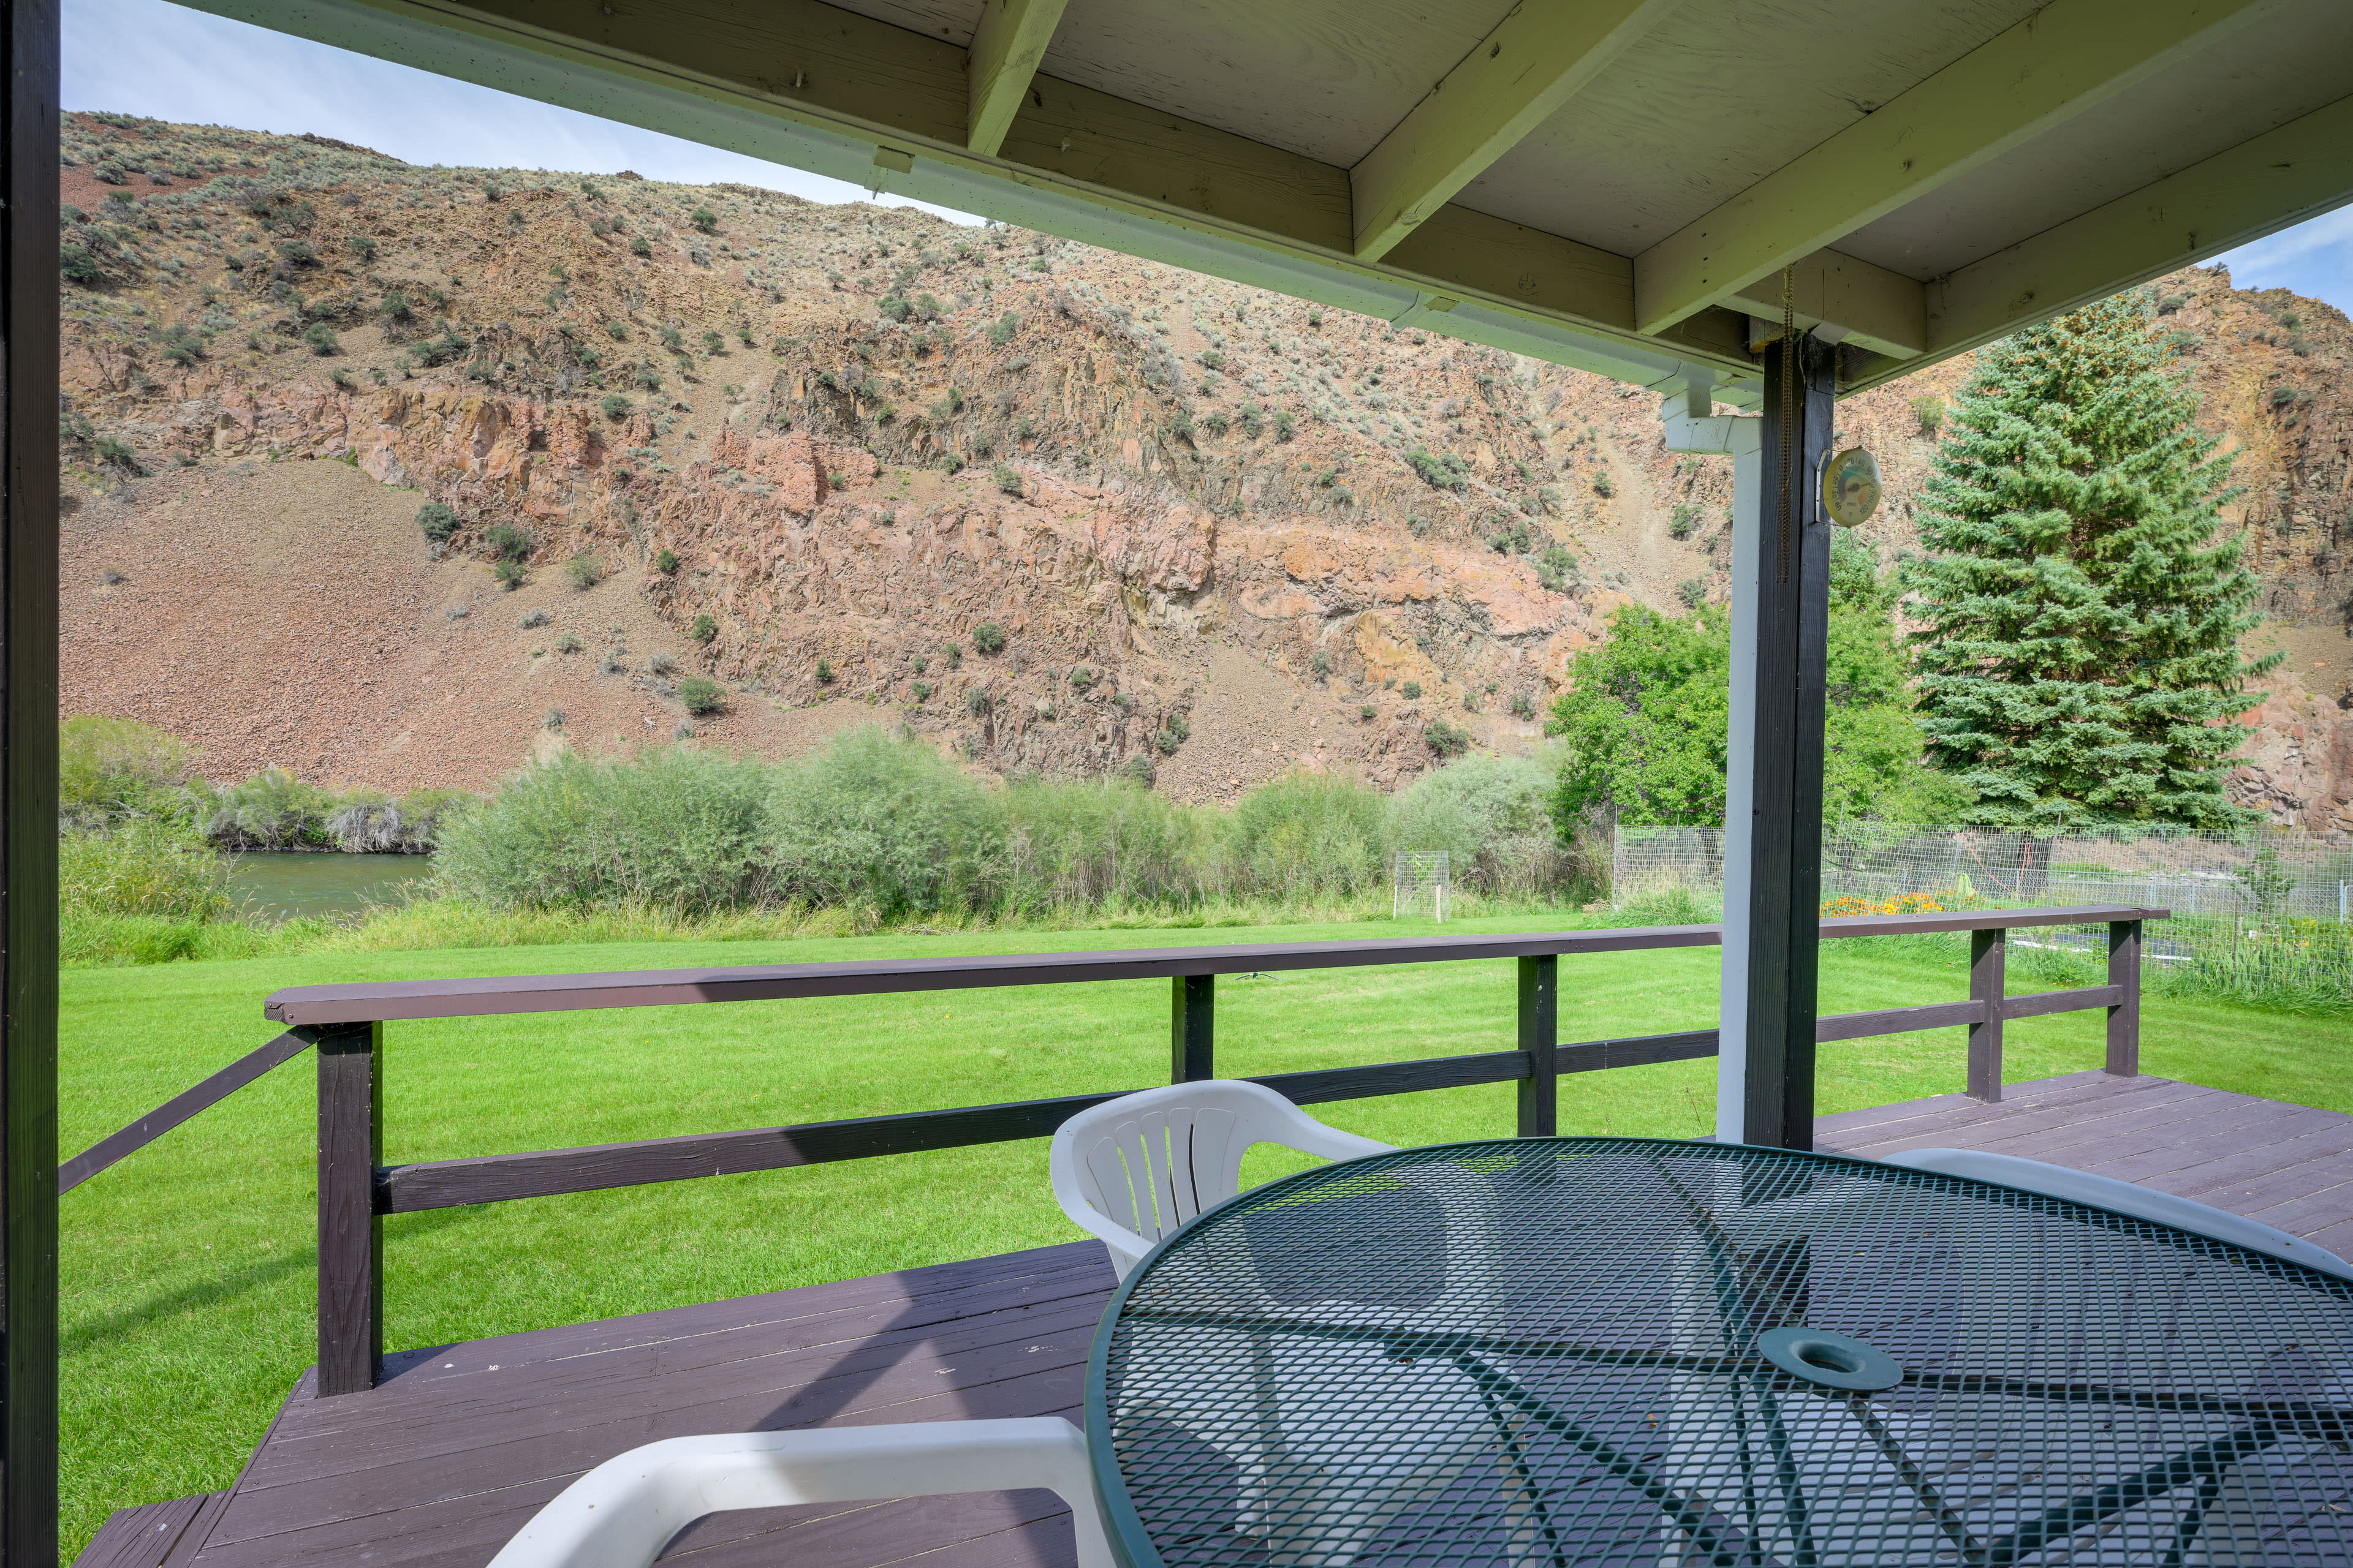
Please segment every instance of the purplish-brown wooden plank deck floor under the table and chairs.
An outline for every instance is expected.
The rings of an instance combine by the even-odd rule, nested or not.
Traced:
[[[2257,1215],[2353,1253],[2353,1117],[2099,1072],[1824,1117],[1824,1150],[1981,1147]],[[576,1474],[694,1432],[1078,1415],[1111,1293],[1094,1241],[398,1356],[294,1389],[228,1493],[115,1514],[78,1568],[482,1568]],[[1066,1568],[1049,1493],[722,1514],[692,1568]]]

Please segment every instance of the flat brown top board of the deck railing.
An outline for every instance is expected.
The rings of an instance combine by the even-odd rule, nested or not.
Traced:
[[[1995,931],[2012,926],[2085,926],[2165,919],[2139,905],[2064,910],[1972,910],[1965,914],[1861,914],[1821,922],[1821,936],[1908,936]],[[487,1018],[494,1013],[565,1013],[607,1006],[682,1001],[769,1001],[779,997],[868,997],[991,985],[1064,985],[1078,980],[1165,980],[1278,969],[1355,969],[1365,964],[1435,964],[1520,959],[1567,952],[1638,952],[1713,947],[1722,926],[1626,926],[1609,931],[1515,931],[1497,936],[1421,936],[1360,943],[1259,943],[1141,947],[1127,952],[1021,952],[1002,957],[856,959],[847,964],[746,964],[739,969],[638,969],[586,976],[494,976],[466,980],[386,980],[372,985],[289,985],[261,1013],[289,1025],[376,1023],[400,1018]]]

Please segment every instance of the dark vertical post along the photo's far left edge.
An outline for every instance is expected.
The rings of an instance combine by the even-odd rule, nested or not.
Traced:
[[[7,7],[0,1561],[56,1563],[56,5]]]

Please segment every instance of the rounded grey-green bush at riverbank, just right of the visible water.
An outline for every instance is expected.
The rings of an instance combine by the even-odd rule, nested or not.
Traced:
[[[442,893],[501,910],[753,905],[769,893],[772,790],[769,769],[718,752],[560,752],[442,823],[433,875]]]

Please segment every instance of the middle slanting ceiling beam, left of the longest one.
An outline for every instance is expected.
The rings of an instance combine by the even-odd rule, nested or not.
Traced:
[[[1678,0],[1522,0],[1348,169],[1355,254],[1386,256]]]

